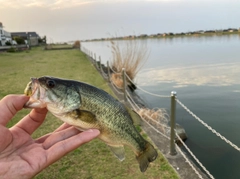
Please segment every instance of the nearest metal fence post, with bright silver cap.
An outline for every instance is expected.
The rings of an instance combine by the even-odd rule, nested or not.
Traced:
[[[170,155],[176,155],[176,146],[175,146],[175,118],[176,118],[176,98],[177,92],[171,92],[171,139],[170,139]]]

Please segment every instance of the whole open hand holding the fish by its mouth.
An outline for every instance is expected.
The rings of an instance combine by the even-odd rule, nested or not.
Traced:
[[[80,132],[63,124],[53,133],[32,139],[44,121],[47,109],[33,109],[10,129],[6,124],[29,97],[9,95],[0,101],[0,178],[32,178],[70,151],[99,135],[96,129]]]

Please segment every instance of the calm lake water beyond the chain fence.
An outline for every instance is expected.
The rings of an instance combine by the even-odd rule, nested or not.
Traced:
[[[202,36],[138,40],[150,51],[137,75],[145,90],[178,99],[204,122],[240,146],[240,36]],[[124,45],[124,41],[120,41]],[[86,42],[87,49],[111,60],[109,42]],[[170,99],[137,90],[149,106],[170,109]],[[217,179],[240,178],[240,154],[200,124],[180,105],[176,120],[188,135],[187,146]]]

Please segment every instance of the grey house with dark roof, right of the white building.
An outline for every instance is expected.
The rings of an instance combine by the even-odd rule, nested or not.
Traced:
[[[38,45],[39,35],[36,32],[12,32],[12,38],[21,37],[25,40],[26,43],[29,43],[31,46]]]

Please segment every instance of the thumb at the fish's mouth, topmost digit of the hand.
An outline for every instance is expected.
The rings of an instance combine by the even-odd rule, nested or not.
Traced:
[[[8,95],[0,101],[0,124],[6,126],[8,121],[23,108],[29,100],[25,95]]]

